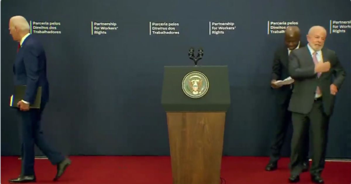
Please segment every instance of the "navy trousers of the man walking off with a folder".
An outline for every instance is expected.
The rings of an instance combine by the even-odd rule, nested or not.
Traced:
[[[21,125],[22,142],[22,171],[21,175],[34,175],[34,144],[48,157],[49,161],[55,165],[65,159],[61,153],[55,151],[44,138],[41,130],[41,115],[45,104],[40,109],[30,109],[29,111],[18,110]]]

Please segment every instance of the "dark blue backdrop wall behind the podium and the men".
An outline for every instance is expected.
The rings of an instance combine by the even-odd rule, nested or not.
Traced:
[[[223,154],[267,156],[276,124],[271,65],[283,44],[283,34],[267,35],[267,21],[298,21],[306,35],[313,25],[329,30],[330,20],[350,20],[350,12],[349,0],[2,0],[1,155],[20,154],[18,123],[8,107],[16,54],[8,34],[11,16],[61,22],[62,34],[35,36],[46,49],[51,90],[42,128],[64,153],[169,155],[160,104],[163,67],[192,65],[187,50],[201,46],[200,64],[229,67],[232,105]],[[112,21],[119,28],[92,36],[91,21]],[[150,36],[150,21],[179,22],[180,35]],[[210,21],[232,21],[236,30],[208,35]],[[325,44],[348,74],[330,121],[327,157],[351,158],[350,33],[328,34]],[[289,146],[286,141],[284,156]]]

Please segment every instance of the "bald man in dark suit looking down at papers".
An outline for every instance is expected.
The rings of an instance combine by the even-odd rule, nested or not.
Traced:
[[[274,131],[274,139],[271,145],[271,155],[269,163],[266,165],[266,171],[274,171],[277,169],[278,161],[280,159],[280,151],[287,135],[288,127],[291,122],[291,112],[288,110],[292,84],[279,85],[275,82],[277,80],[284,80],[290,76],[288,71],[288,60],[292,50],[306,46],[306,43],[300,41],[300,29],[297,26],[288,26],[285,30],[284,42],[285,44],[279,47],[274,53],[273,66],[272,66],[272,80],[271,87],[274,88],[277,102],[277,121],[276,130]],[[304,141],[304,162],[303,171],[308,171],[309,168],[309,141],[308,136]]]

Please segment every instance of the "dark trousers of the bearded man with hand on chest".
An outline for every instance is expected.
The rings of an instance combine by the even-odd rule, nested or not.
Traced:
[[[310,125],[312,140],[311,174],[320,174],[324,169],[325,150],[329,116],[323,111],[322,100],[315,100],[309,114],[292,113],[293,134],[291,140],[291,174],[302,172],[303,140],[308,133]]]

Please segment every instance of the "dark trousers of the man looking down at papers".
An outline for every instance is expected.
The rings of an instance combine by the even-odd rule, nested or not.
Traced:
[[[277,129],[274,134],[274,139],[271,145],[270,162],[278,162],[280,152],[284,144],[289,124],[291,123],[291,112],[288,109],[290,98],[287,98],[283,104],[277,105]],[[309,136],[306,135],[303,141],[303,159],[309,161]]]

